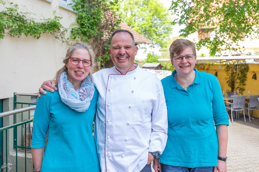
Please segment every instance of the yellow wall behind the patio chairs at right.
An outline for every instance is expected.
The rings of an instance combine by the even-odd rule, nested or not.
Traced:
[[[245,91],[243,92],[243,95],[248,95],[248,90],[250,91],[250,95],[258,95],[259,94],[259,64],[248,64],[249,65],[249,71],[247,72],[247,81],[246,81],[246,86],[245,86]],[[218,81],[221,86],[221,91],[224,91],[226,95],[226,90],[230,89],[227,84],[226,84],[226,73],[224,70],[224,67],[221,65],[221,70],[220,70],[220,65],[219,64],[205,64],[203,69],[199,69],[199,71],[207,72],[212,75],[215,74],[215,72],[218,72]],[[252,79],[253,72],[256,73],[256,77],[258,78],[257,80]],[[237,90],[236,90],[237,91]],[[247,113],[245,112],[247,115]],[[252,111],[250,111],[250,116],[252,114]],[[253,117],[259,118],[259,110],[254,110],[253,111]]]

